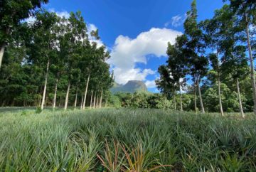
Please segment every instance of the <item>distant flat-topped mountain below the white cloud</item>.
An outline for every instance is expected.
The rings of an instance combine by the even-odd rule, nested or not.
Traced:
[[[140,80],[129,80],[125,85],[114,82],[111,92],[147,92],[146,85]]]

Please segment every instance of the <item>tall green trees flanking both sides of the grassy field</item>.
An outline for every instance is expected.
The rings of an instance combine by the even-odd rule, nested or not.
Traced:
[[[114,81],[107,63],[110,53],[97,44],[98,30],[87,31],[79,11],[61,18],[38,9],[38,1],[26,7],[35,8],[33,14],[22,11],[16,18],[7,18],[14,10],[8,7],[1,12],[1,107],[85,109],[101,107],[107,99],[122,102],[122,97],[109,92]],[[24,21],[29,15],[35,21]],[[198,21],[194,1],[186,16],[183,35],[174,45],[169,43],[169,58],[158,69],[156,87],[171,104],[169,108],[222,115],[240,112],[242,116],[255,112],[253,1],[230,1],[205,21]],[[145,96],[139,95],[144,101]]]

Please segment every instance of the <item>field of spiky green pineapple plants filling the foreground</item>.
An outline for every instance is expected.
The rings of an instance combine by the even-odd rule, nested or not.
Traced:
[[[255,171],[256,118],[161,109],[0,113],[1,171]]]

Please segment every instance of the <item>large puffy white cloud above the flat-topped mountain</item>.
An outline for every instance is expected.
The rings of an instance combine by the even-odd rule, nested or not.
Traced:
[[[128,80],[146,80],[146,76],[154,75],[156,71],[141,70],[135,67],[136,63],[146,64],[146,55],[166,55],[167,43],[173,44],[176,36],[181,34],[168,28],[151,28],[134,39],[118,36],[108,60],[114,70],[116,82],[125,84]]]

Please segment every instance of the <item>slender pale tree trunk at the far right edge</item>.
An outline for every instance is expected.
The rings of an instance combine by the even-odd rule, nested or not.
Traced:
[[[250,34],[249,34],[248,23],[246,24],[246,36],[247,36],[247,46],[248,46],[249,56],[250,56],[250,77],[251,77],[251,82],[252,82],[253,102],[254,102],[253,112],[254,112],[254,114],[256,114],[255,70],[254,70],[254,64],[253,64],[253,58],[252,58],[252,47],[250,45]]]

